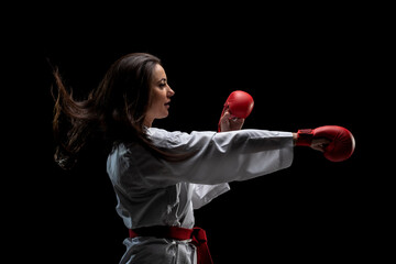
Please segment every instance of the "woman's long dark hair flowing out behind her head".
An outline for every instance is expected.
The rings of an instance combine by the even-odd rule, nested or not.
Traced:
[[[176,161],[177,155],[155,147],[145,133],[144,119],[150,107],[150,82],[161,61],[146,53],[132,53],[111,65],[98,88],[87,99],[76,100],[54,68],[53,131],[55,162],[73,168],[89,148],[108,153],[116,142],[138,142],[156,156]]]

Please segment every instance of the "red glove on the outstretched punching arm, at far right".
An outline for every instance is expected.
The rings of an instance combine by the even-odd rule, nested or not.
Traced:
[[[324,157],[331,162],[342,162],[349,158],[355,148],[352,133],[342,127],[324,125],[315,130],[299,130],[296,145],[310,146],[312,139],[324,138],[330,144],[324,147]]]

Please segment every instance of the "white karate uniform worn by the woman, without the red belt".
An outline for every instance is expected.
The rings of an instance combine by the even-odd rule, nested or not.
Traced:
[[[286,168],[293,162],[293,134],[264,130],[232,132],[167,132],[147,129],[156,146],[196,152],[183,162],[155,158],[141,145],[119,144],[109,154],[107,170],[128,229],[175,226],[191,229],[198,209],[246,180]],[[189,241],[153,237],[125,239],[120,263],[196,263]]]

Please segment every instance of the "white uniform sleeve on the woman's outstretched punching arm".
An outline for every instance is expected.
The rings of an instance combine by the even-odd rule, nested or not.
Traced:
[[[167,132],[155,130],[154,144],[176,153],[195,155],[183,162],[134,155],[138,167],[152,184],[180,182],[217,185],[246,180],[292,165],[293,134],[265,130],[231,132]],[[147,183],[148,183],[147,182]]]

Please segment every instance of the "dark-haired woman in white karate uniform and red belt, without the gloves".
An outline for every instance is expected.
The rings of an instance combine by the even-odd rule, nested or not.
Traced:
[[[194,209],[246,180],[290,166],[296,133],[240,130],[221,117],[221,132],[167,132],[152,127],[168,116],[175,91],[161,61],[134,53],[118,59],[86,100],[76,101],[54,72],[55,161],[72,168],[101,150],[117,212],[130,229],[120,263],[211,263]],[[320,140],[311,147],[321,151]]]

